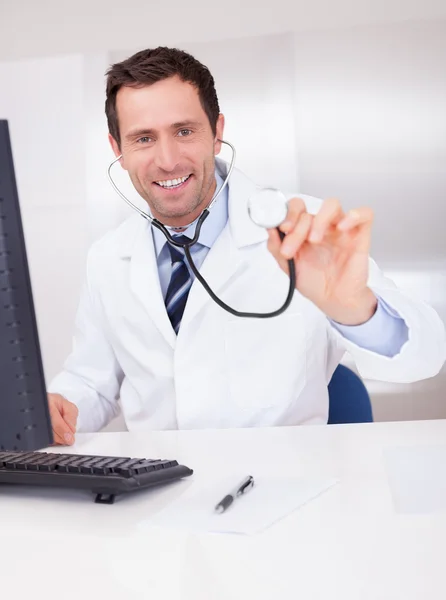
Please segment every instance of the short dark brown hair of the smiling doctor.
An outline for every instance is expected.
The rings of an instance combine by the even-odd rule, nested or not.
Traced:
[[[214,78],[209,69],[197,59],[177,48],[158,48],[141,50],[126,60],[111,65],[107,73],[105,114],[108,130],[121,146],[116,95],[123,86],[143,87],[162,79],[178,76],[182,81],[191,83],[198,90],[201,105],[205,111],[212,133],[216,135],[217,119],[220,113]]]

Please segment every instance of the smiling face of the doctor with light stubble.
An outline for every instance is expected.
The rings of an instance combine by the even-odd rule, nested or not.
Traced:
[[[215,191],[215,155],[224,118],[214,137],[196,88],[178,77],[122,87],[116,98],[121,165],[154,217],[181,227],[193,221]]]

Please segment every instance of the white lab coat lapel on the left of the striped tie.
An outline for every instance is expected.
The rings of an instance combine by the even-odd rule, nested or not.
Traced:
[[[158,275],[153,237],[150,226],[139,232],[130,258],[130,288],[161,335],[173,347],[176,335],[167,316]]]

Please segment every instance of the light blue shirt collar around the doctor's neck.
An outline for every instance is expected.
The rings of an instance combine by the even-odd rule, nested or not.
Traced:
[[[217,182],[217,190],[223,185],[223,178],[215,171],[215,179]],[[203,246],[211,248],[215,240],[218,238],[220,233],[223,231],[224,226],[228,220],[228,186],[222,191],[217,202],[209,211],[209,216],[204,221],[200,237],[198,241]],[[185,235],[189,239],[192,239],[195,235],[196,223],[192,223],[185,231],[181,232],[181,235]],[[155,245],[155,252],[157,258],[161,254],[164,245],[166,244],[166,237],[162,231],[156,227],[152,227],[153,242]]]

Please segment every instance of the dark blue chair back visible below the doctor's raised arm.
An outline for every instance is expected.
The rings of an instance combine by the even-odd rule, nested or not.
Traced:
[[[328,423],[371,423],[370,396],[362,379],[351,369],[338,365],[328,384]]]

